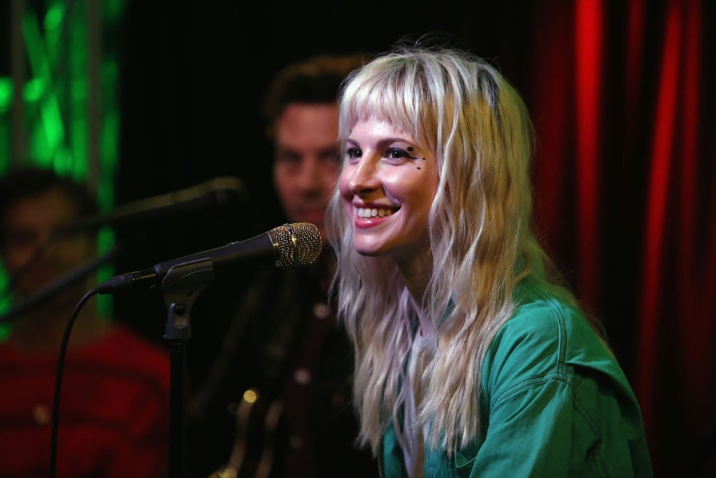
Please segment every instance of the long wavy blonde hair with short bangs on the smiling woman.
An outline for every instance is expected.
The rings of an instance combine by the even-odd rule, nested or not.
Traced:
[[[340,143],[374,115],[411,132],[437,158],[432,272],[422,302],[415,298],[437,344],[422,371],[419,419],[430,421],[430,445],[450,452],[480,427],[480,371],[490,341],[513,315],[513,290],[527,276],[548,285],[549,261],[531,227],[531,122],[518,92],[483,59],[420,46],[398,47],[347,78]],[[338,260],[333,291],[357,360],[359,442],[377,454],[404,400],[415,302],[394,262],[355,252],[338,191],[326,219]]]

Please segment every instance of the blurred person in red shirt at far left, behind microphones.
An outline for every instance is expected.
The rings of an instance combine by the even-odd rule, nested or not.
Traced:
[[[92,214],[96,206],[87,189],[70,178],[42,168],[0,178],[0,256],[14,305],[97,257],[94,231],[57,236]],[[95,287],[94,276],[67,281],[47,300],[22,309],[0,344],[0,477],[49,476],[60,344],[74,308]],[[101,317],[93,302],[85,304],[64,360],[57,475],[164,476],[169,401],[168,352]]]

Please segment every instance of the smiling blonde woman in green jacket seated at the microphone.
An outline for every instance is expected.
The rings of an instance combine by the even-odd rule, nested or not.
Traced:
[[[339,143],[333,291],[384,476],[651,476],[632,388],[531,229],[518,92],[397,47],[344,83]]]

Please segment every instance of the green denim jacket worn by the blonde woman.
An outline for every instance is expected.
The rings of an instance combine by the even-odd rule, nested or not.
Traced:
[[[425,477],[652,477],[639,404],[614,357],[579,310],[533,285],[519,294],[483,364],[478,436],[450,456],[427,449]],[[407,476],[392,426],[379,465]]]

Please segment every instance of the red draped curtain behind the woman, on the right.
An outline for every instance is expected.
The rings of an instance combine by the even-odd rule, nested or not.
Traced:
[[[531,22],[538,226],[606,325],[657,477],[716,473],[714,14],[576,0]]]

